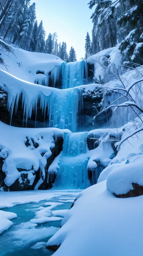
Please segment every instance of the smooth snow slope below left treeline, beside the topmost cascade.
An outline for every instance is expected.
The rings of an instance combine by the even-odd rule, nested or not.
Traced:
[[[0,41],[2,40],[0,39]],[[60,66],[64,62],[52,54],[28,52],[15,46],[11,46],[11,49],[14,54],[8,54],[5,49],[3,49],[4,53],[1,52],[2,59],[9,66],[8,70],[5,66],[2,66],[1,69],[31,83],[34,83],[36,78],[46,77],[47,73],[55,66]],[[36,74],[38,70],[43,71],[45,75]]]

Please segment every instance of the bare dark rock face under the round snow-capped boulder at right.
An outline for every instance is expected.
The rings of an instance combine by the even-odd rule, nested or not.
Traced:
[[[132,183],[133,189],[131,189],[128,193],[122,195],[116,195],[118,198],[127,198],[127,197],[135,197],[143,195],[143,186],[138,185],[137,183]]]

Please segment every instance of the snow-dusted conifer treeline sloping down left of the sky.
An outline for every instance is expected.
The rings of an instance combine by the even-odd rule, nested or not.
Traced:
[[[66,62],[76,61],[75,49],[67,53],[65,42],[58,44],[57,33],[46,33],[43,21],[36,20],[36,4],[30,0],[0,0],[0,37],[24,50],[49,53]]]

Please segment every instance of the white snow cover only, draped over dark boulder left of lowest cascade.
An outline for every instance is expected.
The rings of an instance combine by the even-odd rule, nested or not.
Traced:
[[[16,179],[21,179],[21,173],[28,173],[28,179],[30,180],[30,185],[32,185],[35,179],[34,173],[38,171],[39,167],[44,177],[46,159],[52,155],[50,148],[55,146],[53,135],[64,136],[64,132],[58,128],[17,128],[6,125],[1,121],[0,130],[0,157],[5,159],[2,166],[2,171],[6,174],[5,184],[9,187]],[[28,138],[33,138],[39,144],[39,147],[27,147],[25,145],[27,136]],[[41,155],[42,152],[46,152],[44,156]],[[17,168],[25,169],[26,171],[19,172]],[[21,183],[21,180],[19,182]]]

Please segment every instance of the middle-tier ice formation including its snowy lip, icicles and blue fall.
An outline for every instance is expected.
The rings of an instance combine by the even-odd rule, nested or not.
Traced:
[[[0,75],[0,86],[8,93],[8,111],[10,111],[11,119],[13,112],[17,112],[18,103],[21,100],[24,111],[23,122],[31,118],[33,111],[37,115],[38,104],[40,104],[44,118],[47,114],[49,116],[48,124],[45,123],[46,127],[77,131],[78,116],[83,107],[82,88],[59,90],[28,83],[2,70],[0,70]]]

